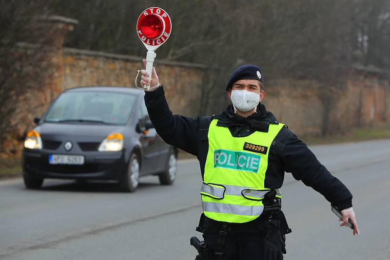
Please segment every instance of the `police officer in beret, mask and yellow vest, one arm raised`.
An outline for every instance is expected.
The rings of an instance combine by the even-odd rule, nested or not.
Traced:
[[[146,65],[146,61],[143,60]],[[197,157],[203,184],[203,214],[197,230],[209,248],[208,259],[280,260],[291,232],[280,210],[284,172],[311,186],[337,206],[347,225],[354,223],[352,194],[287,126],[261,103],[263,74],[243,65],[230,76],[232,104],[211,117],[190,118],[169,110],[155,68],[145,104],[157,133],[170,145]]]

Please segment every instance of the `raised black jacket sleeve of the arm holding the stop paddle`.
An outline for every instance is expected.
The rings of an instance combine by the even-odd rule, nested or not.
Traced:
[[[155,91],[145,92],[144,99],[158,135],[167,144],[197,156],[195,133],[198,130],[199,118],[173,115],[162,86]]]

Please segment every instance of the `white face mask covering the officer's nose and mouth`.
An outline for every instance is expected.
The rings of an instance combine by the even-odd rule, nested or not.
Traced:
[[[247,112],[257,107],[260,102],[260,94],[247,90],[232,91],[232,103],[234,112],[238,109],[241,112]]]

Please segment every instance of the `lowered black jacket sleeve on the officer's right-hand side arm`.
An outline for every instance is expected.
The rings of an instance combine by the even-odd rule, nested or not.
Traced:
[[[279,156],[286,172],[291,172],[296,180],[321,193],[331,204],[340,210],[352,206],[352,194],[336,177],[331,175],[291,130],[284,128],[280,139]]]

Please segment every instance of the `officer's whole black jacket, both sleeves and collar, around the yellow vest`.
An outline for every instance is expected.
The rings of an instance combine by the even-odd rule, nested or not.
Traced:
[[[247,118],[235,114],[232,105],[213,116],[191,118],[173,115],[162,86],[145,93],[145,104],[161,138],[198,158],[202,178],[209,149],[207,134],[213,118],[219,119],[218,126],[228,127],[234,137],[245,137],[254,131],[268,131],[269,124],[278,124],[273,113],[266,111],[261,103],[257,106],[257,112]],[[352,206],[352,194],[348,188],[332,176],[306,144],[287,127],[280,130],[270,147],[265,187],[281,187],[285,171],[321,193],[340,210]]]

